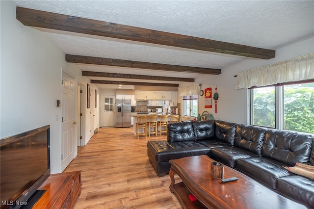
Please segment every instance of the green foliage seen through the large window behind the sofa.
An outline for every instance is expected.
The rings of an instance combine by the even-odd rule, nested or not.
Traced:
[[[253,90],[252,124],[275,128],[275,88]],[[314,133],[314,83],[284,86],[284,129]]]

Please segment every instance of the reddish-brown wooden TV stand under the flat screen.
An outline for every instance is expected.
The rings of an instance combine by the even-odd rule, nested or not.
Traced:
[[[52,174],[38,188],[46,192],[32,209],[72,209],[81,187],[80,171]]]

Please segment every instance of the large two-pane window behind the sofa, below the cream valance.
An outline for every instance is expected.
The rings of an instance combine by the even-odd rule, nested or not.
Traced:
[[[314,133],[314,82],[250,89],[251,124]]]

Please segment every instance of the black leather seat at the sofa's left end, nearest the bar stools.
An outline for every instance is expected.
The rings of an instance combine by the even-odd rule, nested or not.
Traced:
[[[155,156],[157,162],[168,162],[181,157],[208,155],[210,149],[195,141],[167,142],[148,141],[147,149]]]

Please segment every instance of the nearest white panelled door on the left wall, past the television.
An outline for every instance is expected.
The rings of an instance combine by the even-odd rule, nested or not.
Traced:
[[[63,171],[74,159],[75,145],[75,81],[62,73],[62,136],[61,170]]]

